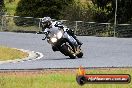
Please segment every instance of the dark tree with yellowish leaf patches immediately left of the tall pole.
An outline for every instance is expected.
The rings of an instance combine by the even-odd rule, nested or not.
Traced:
[[[94,20],[97,22],[111,22],[113,17],[112,0],[92,0],[92,2],[96,8]]]

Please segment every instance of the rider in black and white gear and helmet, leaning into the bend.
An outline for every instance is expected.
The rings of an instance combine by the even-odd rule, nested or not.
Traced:
[[[69,28],[64,29],[64,25],[61,22],[58,22],[58,21],[52,22],[50,17],[44,17],[41,19],[41,26],[42,26],[42,31],[44,33],[47,33],[48,31],[51,31],[51,30],[58,30],[58,28],[63,29],[64,31],[66,31],[66,33],[71,35],[76,40],[78,45],[82,45],[82,42],[80,42],[77,39],[77,37],[74,35],[74,31]],[[71,39],[69,39],[69,40],[71,40]]]

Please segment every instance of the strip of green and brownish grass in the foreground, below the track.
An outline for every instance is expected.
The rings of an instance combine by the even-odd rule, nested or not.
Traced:
[[[37,71],[1,73],[1,88],[132,88],[129,84],[85,84],[80,86],[76,82],[77,71]],[[92,69],[87,74],[130,74],[128,69]]]

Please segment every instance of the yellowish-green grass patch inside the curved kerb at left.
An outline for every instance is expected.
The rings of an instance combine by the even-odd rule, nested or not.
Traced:
[[[25,52],[0,46],[0,61],[21,59],[27,56],[28,54]]]

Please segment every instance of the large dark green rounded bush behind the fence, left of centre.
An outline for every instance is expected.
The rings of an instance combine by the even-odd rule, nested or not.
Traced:
[[[15,15],[61,18],[62,12],[73,0],[21,0]]]

